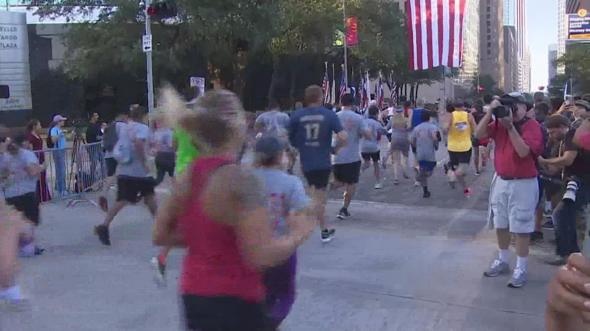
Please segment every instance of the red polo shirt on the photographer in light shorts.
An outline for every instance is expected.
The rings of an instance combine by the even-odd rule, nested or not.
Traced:
[[[487,135],[496,141],[494,147],[494,167],[498,176],[510,178],[532,178],[539,176],[536,158],[543,151],[543,133],[539,122],[529,120],[520,127],[520,136],[530,148],[529,155],[520,157],[508,130],[501,124],[493,122],[487,125]]]

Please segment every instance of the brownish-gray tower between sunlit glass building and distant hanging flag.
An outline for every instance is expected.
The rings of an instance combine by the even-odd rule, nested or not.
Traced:
[[[504,90],[503,0],[486,0],[485,4],[480,8],[480,74],[489,75]]]

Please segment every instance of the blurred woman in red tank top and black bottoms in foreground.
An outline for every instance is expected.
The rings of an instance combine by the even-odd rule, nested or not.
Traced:
[[[173,92],[163,100],[166,110],[183,111]],[[178,190],[158,211],[154,241],[187,247],[179,290],[189,330],[272,330],[264,269],[289,259],[314,224],[309,218],[275,239],[263,183],[249,168],[231,164],[244,140],[240,101],[211,90],[198,103],[201,111],[183,116],[180,125],[210,153],[182,174]]]

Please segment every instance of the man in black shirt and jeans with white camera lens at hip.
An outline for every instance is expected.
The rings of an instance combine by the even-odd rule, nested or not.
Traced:
[[[576,129],[571,127],[567,118],[552,115],[547,120],[547,130],[550,138],[559,141],[559,156],[549,159],[539,157],[539,164],[563,169],[562,189],[565,194],[553,211],[556,254],[546,263],[560,266],[567,262],[569,254],[580,251],[576,217],[590,201],[590,153],[573,144]]]

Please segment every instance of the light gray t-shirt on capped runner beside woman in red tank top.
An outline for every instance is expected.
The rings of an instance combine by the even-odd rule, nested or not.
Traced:
[[[263,179],[266,191],[266,207],[278,236],[289,233],[286,217],[309,204],[303,182],[278,169],[258,168],[254,173]]]

